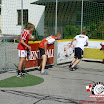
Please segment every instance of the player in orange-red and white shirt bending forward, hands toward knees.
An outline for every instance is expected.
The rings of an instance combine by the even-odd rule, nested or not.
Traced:
[[[41,61],[41,74],[46,75],[48,72],[44,71],[45,65],[47,62],[48,54],[47,54],[47,48],[51,45],[54,44],[55,40],[61,39],[61,34],[57,33],[55,36],[49,36],[45,39],[42,40],[42,42],[39,44],[39,50],[40,50],[40,55],[42,57]]]

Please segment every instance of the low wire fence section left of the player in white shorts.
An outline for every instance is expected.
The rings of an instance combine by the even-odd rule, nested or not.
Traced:
[[[17,45],[19,36],[0,37],[0,73],[16,70],[18,67]]]

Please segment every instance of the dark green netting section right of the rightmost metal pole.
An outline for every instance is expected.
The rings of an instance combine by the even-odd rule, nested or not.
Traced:
[[[90,39],[104,39],[104,4],[84,2],[83,27]]]

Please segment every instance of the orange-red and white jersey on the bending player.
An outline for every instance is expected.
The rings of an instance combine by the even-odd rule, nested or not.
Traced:
[[[47,48],[48,48],[50,45],[54,44],[54,42],[55,42],[55,36],[49,36],[49,37],[43,39],[43,40],[41,41],[41,43],[39,44],[39,48],[44,49],[44,43],[45,43],[46,41],[48,41],[48,46],[47,46]]]

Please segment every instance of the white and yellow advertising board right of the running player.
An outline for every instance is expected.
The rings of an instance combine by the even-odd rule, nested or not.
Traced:
[[[88,47],[85,47],[84,58],[102,61],[104,59],[104,40],[89,40]]]

